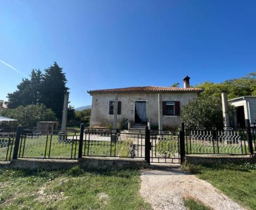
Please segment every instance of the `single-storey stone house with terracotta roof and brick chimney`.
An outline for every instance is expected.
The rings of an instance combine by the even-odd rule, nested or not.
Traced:
[[[117,123],[127,119],[129,128],[143,128],[146,124],[159,125],[159,130],[177,128],[180,108],[203,91],[190,87],[189,79],[183,79],[183,88],[143,86],[88,91],[92,96],[90,126],[116,128]]]

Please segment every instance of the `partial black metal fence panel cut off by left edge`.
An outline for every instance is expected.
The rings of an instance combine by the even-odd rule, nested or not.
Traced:
[[[13,154],[15,133],[0,133],[0,161],[10,161]]]

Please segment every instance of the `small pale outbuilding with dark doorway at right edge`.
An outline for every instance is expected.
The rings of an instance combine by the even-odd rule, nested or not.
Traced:
[[[231,125],[245,127],[245,120],[256,123],[256,96],[242,96],[228,102],[236,108],[234,122]]]

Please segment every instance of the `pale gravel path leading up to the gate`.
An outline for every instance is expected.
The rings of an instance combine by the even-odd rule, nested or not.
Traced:
[[[210,183],[178,167],[153,167],[141,171],[141,196],[153,209],[186,209],[184,197],[200,200],[212,209],[245,209],[223,195]]]

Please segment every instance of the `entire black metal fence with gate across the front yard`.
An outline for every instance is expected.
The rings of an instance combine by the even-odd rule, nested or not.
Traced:
[[[77,159],[82,156],[143,158],[148,163],[182,163],[186,154],[253,155],[256,127],[245,129],[184,127],[180,130],[33,131],[18,126],[0,132],[0,160],[12,158]]]

